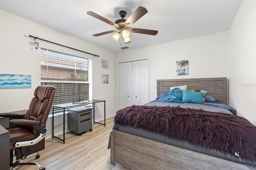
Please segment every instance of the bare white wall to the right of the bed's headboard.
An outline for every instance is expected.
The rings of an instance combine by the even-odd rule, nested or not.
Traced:
[[[229,31],[230,105],[256,125],[256,1],[243,1]]]

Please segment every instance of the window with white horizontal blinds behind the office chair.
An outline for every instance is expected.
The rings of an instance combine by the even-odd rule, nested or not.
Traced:
[[[41,85],[56,87],[54,104],[90,99],[92,60],[41,48]]]

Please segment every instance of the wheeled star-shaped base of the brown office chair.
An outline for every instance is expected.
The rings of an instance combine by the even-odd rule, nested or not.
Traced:
[[[40,154],[38,152],[32,153],[28,156],[26,156],[25,159],[16,161],[16,150],[12,150],[11,153],[11,166],[10,166],[10,170],[16,170],[16,166],[27,166],[27,165],[36,165],[39,167],[40,170],[45,170],[45,168],[37,162],[26,162],[26,163],[21,163],[22,161],[26,160],[27,158],[36,155],[36,159],[40,158]]]

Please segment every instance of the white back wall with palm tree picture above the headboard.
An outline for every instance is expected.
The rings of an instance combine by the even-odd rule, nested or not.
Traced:
[[[147,35],[145,35],[146,38]],[[157,79],[228,77],[228,32],[117,53],[126,60],[149,57],[149,99],[156,98]],[[176,61],[188,60],[188,75],[176,75]]]

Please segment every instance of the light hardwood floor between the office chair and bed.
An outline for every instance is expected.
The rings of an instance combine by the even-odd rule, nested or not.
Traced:
[[[68,132],[65,134],[65,144],[50,138],[45,141],[45,149],[39,151],[40,158],[35,156],[24,162],[39,162],[46,170],[128,170],[115,164],[110,164],[110,149],[108,139],[113,127],[113,118],[106,119],[106,127],[93,124],[92,132],[82,136]],[[63,135],[58,136],[63,138]],[[38,170],[38,166],[20,166],[16,170]]]

